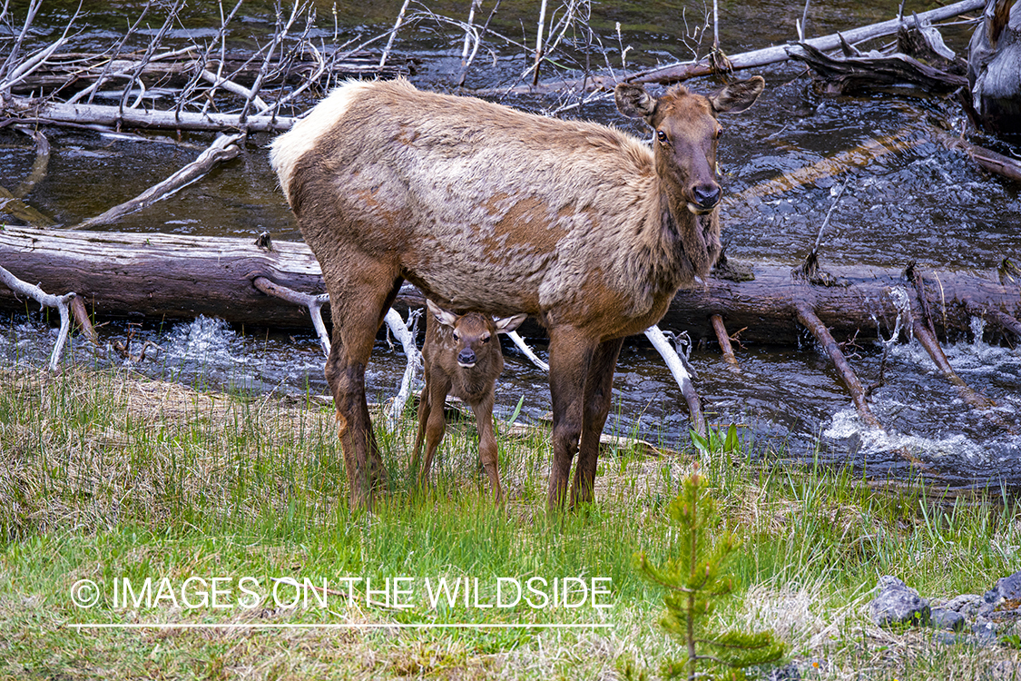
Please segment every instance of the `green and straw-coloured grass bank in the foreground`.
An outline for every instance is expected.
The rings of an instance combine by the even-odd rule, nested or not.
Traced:
[[[379,437],[390,491],[372,514],[352,513],[333,409],[320,401],[201,393],[117,372],[0,373],[0,678],[619,678],[628,667],[654,675],[677,656],[655,624],[662,594],[632,562],[638,550],[657,563],[672,554],[665,510],[697,452],[612,448],[596,502],[550,516],[546,431],[501,432],[504,510],[491,504],[470,420],[448,426],[424,494],[406,475],[414,415]],[[744,540],[721,628],[772,628],[806,678],[1018,669],[1017,650],[880,630],[866,607],[884,574],[933,597],[981,593],[1016,571],[1012,500],[993,492],[951,502],[919,485],[883,491],[847,471],[772,463],[782,454],[752,444],[702,468]],[[148,601],[113,602],[115,584],[128,579],[138,593],[147,577]],[[477,580],[486,604],[497,578],[565,577],[607,579],[597,600],[611,606],[487,609],[472,593],[468,605],[434,607],[426,587],[427,578]],[[198,587],[213,578],[231,607],[201,602]],[[241,602],[242,578],[265,597]],[[349,598],[345,578],[377,591],[357,582]],[[403,578],[398,600],[409,607],[380,604],[393,595],[382,590],[388,578]],[[89,609],[71,600],[83,579],[99,586]],[[292,579],[325,580],[331,591],[295,589]],[[251,628],[302,624],[374,628]],[[424,624],[611,627],[406,627]]]

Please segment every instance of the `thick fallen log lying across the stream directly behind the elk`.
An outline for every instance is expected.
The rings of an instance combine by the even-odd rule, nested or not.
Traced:
[[[0,264],[47,290],[72,290],[100,317],[193,319],[218,317],[235,324],[310,329],[305,307],[266,295],[256,278],[294,291],[325,292],[319,263],[303,243],[165,234],[121,234],[6,227],[0,229]],[[724,263],[728,264],[728,263]],[[870,265],[831,266],[826,280],[806,282],[789,264],[753,263],[755,278],[721,276],[704,286],[682,289],[660,326],[686,331],[695,341],[716,342],[712,318],[742,329],[742,343],[794,345],[801,333],[797,305],[805,304],[834,336],[875,338],[877,322],[892,329],[900,313],[891,291],[916,295],[904,272]],[[723,272],[721,270],[721,272]],[[989,338],[1017,328],[1021,285],[999,273],[941,270],[920,273],[937,334],[970,334],[972,315],[982,314]],[[1002,281],[1001,281],[1002,280]],[[405,285],[397,306],[424,300]],[[25,309],[25,302],[0,287],[0,308]],[[526,333],[539,333],[536,327]]]

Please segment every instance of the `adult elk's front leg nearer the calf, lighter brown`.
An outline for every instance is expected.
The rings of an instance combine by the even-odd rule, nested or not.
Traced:
[[[553,407],[553,463],[549,470],[550,510],[564,508],[571,463],[583,422],[585,377],[595,343],[576,329],[549,332],[549,395]]]

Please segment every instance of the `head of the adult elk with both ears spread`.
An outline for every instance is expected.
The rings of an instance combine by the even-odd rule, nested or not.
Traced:
[[[717,121],[724,111],[743,111],[759,98],[766,81],[756,76],[710,95],[683,86],[653,97],[640,85],[621,83],[614,92],[617,108],[631,118],[644,118],[653,131],[657,174],[678,204],[696,214],[720,203],[716,181],[716,144],[723,132]]]

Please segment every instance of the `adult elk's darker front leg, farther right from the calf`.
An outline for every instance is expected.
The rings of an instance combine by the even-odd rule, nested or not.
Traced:
[[[599,437],[606,425],[614,390],[614,369],[621,353],[623,338],[609,340],[592,354],[588,377],[585,380],[581,443],[578,447],[578,467],[575,469],[571,488],[571,507],[592,500],[595,486],[595,469],[599,461]]]

